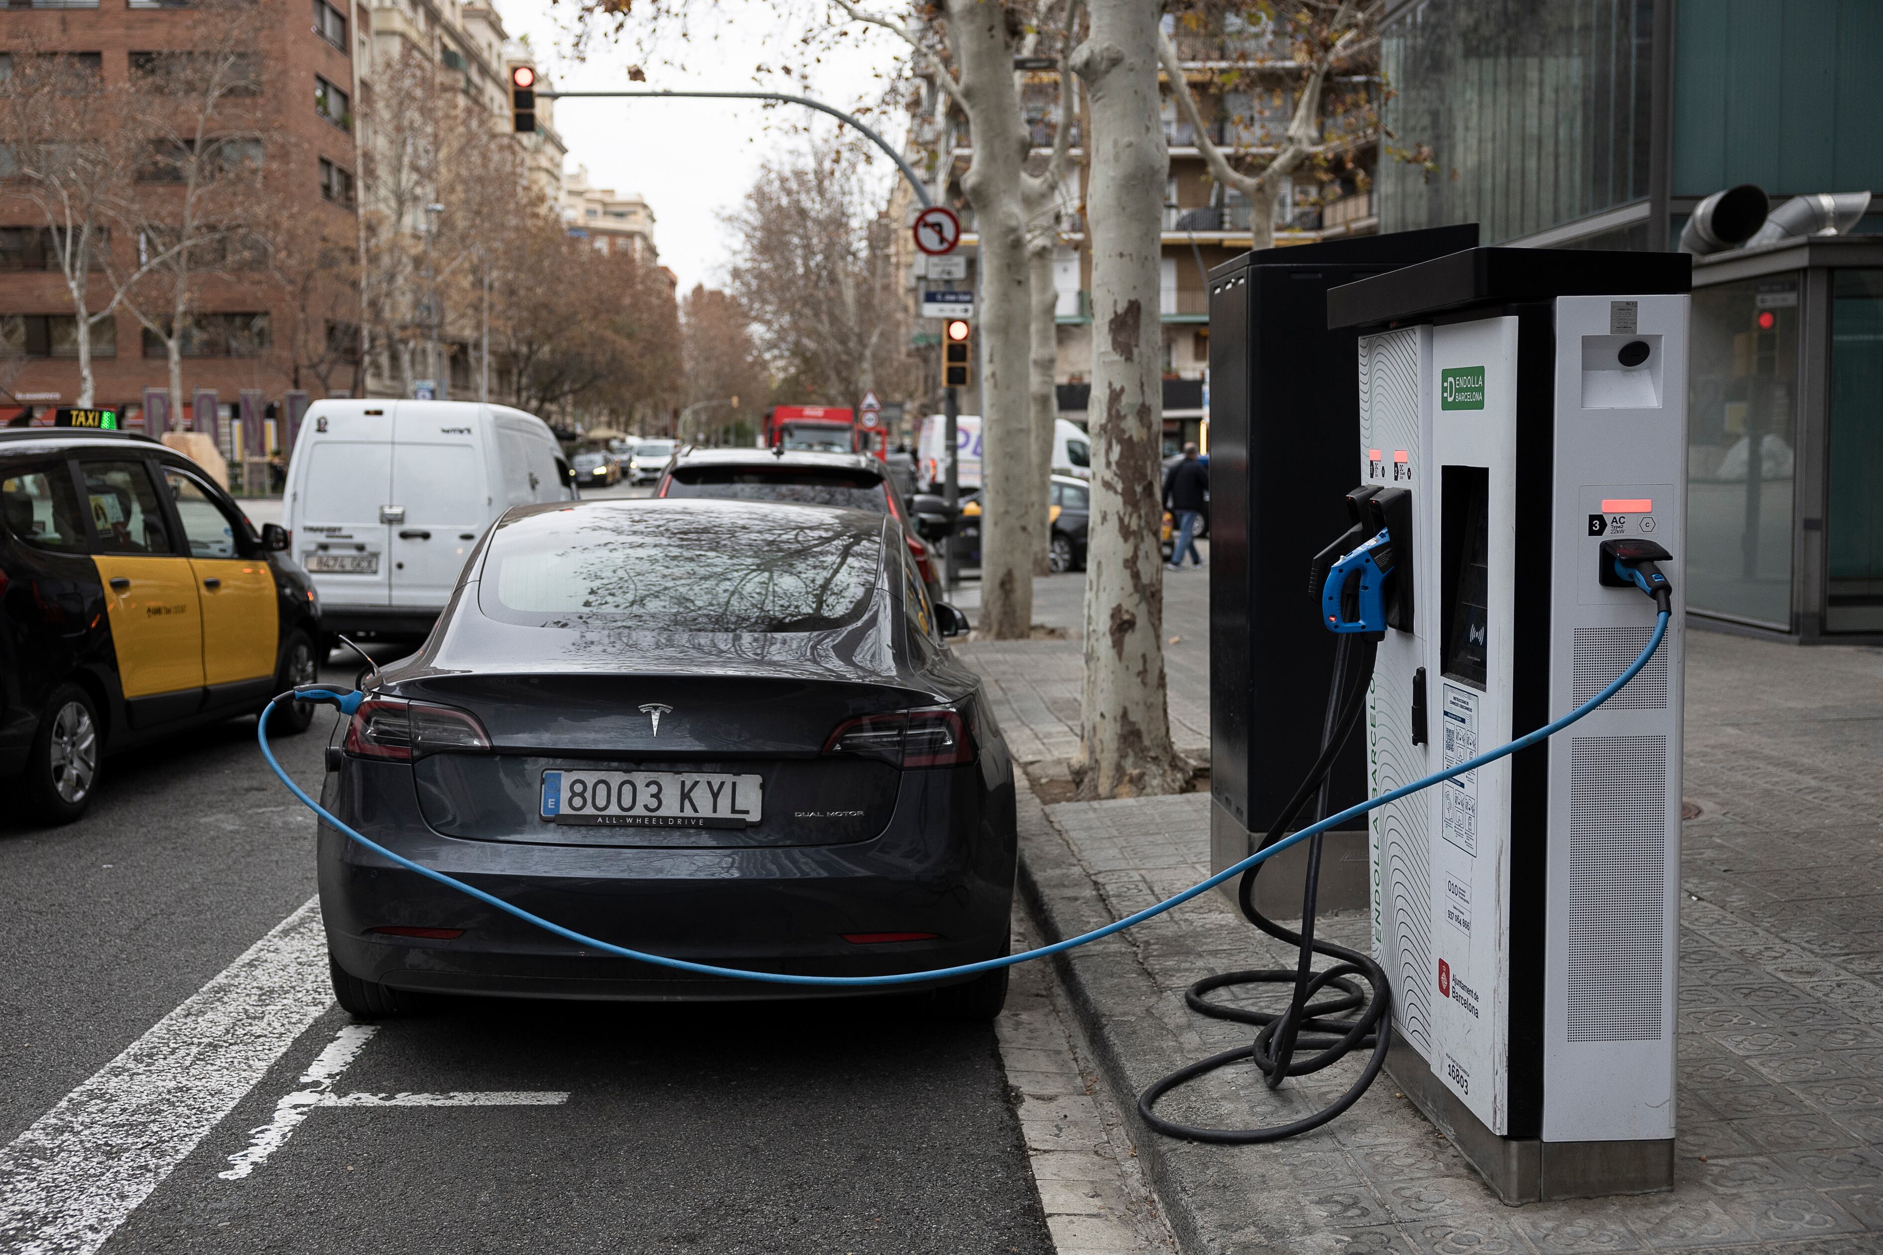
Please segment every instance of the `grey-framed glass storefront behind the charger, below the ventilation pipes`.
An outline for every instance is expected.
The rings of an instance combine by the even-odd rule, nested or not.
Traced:
[[[1883,642],[1883,239],[1700,258],[1687,373],[1687,610]]]

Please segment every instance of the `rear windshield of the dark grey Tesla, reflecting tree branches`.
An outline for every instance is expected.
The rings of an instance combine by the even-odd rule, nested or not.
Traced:
[[[881,536],[821,510],[595,506],[499,523],[478,606],[525,627],[827,632],[859,621]]]

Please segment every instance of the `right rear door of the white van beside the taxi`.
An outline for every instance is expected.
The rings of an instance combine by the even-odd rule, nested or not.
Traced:
[[[401,401],[392,446],[392,502],[405,512],[392,531],[392,604],[443,610],[484,531],[480,410]]]

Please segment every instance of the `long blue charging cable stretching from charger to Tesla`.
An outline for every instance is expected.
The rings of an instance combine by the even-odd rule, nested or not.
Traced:
[[[1196,898],[1199,894],[1205,894],[1205,892],[1216,888],[1218,884],[1243,875],[1245,871],[1248,871],[1256,864],[1260,864],[1260,862],[1263,862],[1267,858],[1273,858],[1275,854],[1280,854],[1288,847],[1299,845],[1299,843],[1314,837],[1316,834],[1328,832],[1331,828],[1339,828],[1341,824],[1344,824],[1348,820],[1360,818],[1361,815],[1365,815],[1369,811],[1380,809],[1388,802],[1397,802],[1399,798],[1405,798],[1408,794],[1416,794],[1422,788],[1431,788],[1433,785],[1444,783],[1444,781],[1454,779],[1457,775],[1463,775],[1467,771],[1476,771],[1478,768],[1488,766],[1491,762],[1497,762],[1499,758],[1505,758],[1508,755],[1514,755],[1520,749],[1527,749],[1527,747],[1542,741],[1544,738],[1555,736],[1557,732],[1561,732],[1569,724],[1576,723],[1578,719],[1582,719],[1584,715],[1587,715],[1589,711],[1593,711],[1597,706],[1601,706],[1608,698],[1612,698],[1617,692],[1621,692],[1621,689],[1631,679],[1634,679],[1634,675],[1640,674],[1640,670],[1644,666],[1648,666],[1648,659],[1653,657],[1655,649],[1659,649],[1661,642],[1666,638],[1668,619],[1670,619],[1670,612],[1668,610],[1661,610],[1655,615],[1653,636],[1648,638],[1648,647],[1642,649],[1640,657],[1634,659],[1633,662],[1629,662],[1627,670],[1621,672],[1619,675],[1616,675],[1616,679],[1610,681],[1610,685],[1606,689],[1602,689],[1593,698],[1589,698],[1587,702],[1584,702],[1576,709],[1569,711],[1561,719],[1557,719],[1553,723],[1548,723],[1548,724],[1537,728],[1535,732],[1531,732],[1527,736],[1520,736],[1518,739],[1510,741],[1508,745],[1499,745],[1497,749],[1493,749],[1489,753],[1484,753],[1484,755],[1478,755],[1476,758],[1473,758],[1469,762],[1461,762],[1456,768],[1446,768],[1444,771],[1435,771],[1435,773],[1427,775],[1425,779],[1412,781],[1410,785],[1401,785],[1399,788],[1384,792],[1378,798],[1369,798],[1367,802],[1361,802],[1360,805],[1350,805],[1344,811],[1341,811],[1339,815],[1329,815],[1328,818],[1320,820],[1318,824],[1303,828],[1303,830],[1299,830],[1299,832],[1296,832],[1296,834],[1292,834],[1288,837],[1282,837],[1280,841],[1277,841],[1277,843],[1273,843],[1269,847],[1263,847],[1263,849],[1256,850],[1254,854],[1250,854],[1243,862],[1233,864],[1230,867],[1224,867],[1216,875],[1209,877],[1207,881],[1199,881],[1199,882],[1192,884],[1190,888],[1186,888],[1184,892],[1177,894],[1175,898],[1166,898],[1164,901],[1156,903],[1154,907],[1145,907],[1143,911],[1137,911],[1135,914],[1128,914],[1122,920],[1117,920],[1113,924],[1105,924],[1103,928],[1094,928],[1088,933],[1081,933],[1077,937],[1068,937],[1066,941],[1054,941],[1049,946],[1038,946],[1034,950],[1024,950],[1021,954],[1006,954],[1002,958],[981,960],[979,963],[958,963],[955,967],[938,967],[934,971],[898,973],[898,975],[891,975],[891,977],[800,977],[800,975],[774,973],[774,971],[744,971],[744,969],[738,969],[738,967],[717,967],[714,963],[693,963],[689,960],[676,960],[676,958],[668,958],[665,954],[648,954],[646,950],[631,950],[629,946],[618,946],[618,945],[608,943],[608,941],[599,941],[595,937],[587,937],[584,933],[574,931],[572,928],[563,928],[561,924],[555,924],[554,920],[544,920],[540,914],[531,914],[529,911],[523,911],[522,907],[510,905],[510,903],[503,901],[501,898],[497,898],[493,894],[486,894],[484,890],[476,888],[475,884],[465,884],[463,881],[459,881],[456,877],[450,877],[450,875],[444,875],[443,871],[435,871],[431,867],[426,867],[424,864],[418,864],[418,862],[407,858],[405,854],[397,854],[394,850],[388,850],[378,841],[373,841],[371,837],[365,837],[365,835],[354,832],[352,828],[348,828],[346,824],[343,824],[339,818],[335,818],[326,807],[322,807],[318,802],[314,802],[313,798],[309,798],[307,792],[299,785],[296,785],[294,779],[282,770],[281,762],[275,758],[275,751],[269,749],[269,745],[267,745],[267,719],[273,713],[275,704],[281,702],[282,698],[288,698],[290,694],[281,694],[279,698],[275,698],[273,702],[267,704],[267,709],[262,711],[262,723],[260,723],[260,728],[256,730],[256,739],[262,743],[262,756],[267,758],[267,766],[275,770],[275,775],[279,775],[281,783],[288,786],[288,792],[292,792],[296,798],[299,798],[299,802],[307,809],[311,809],[314,815],[318,815],[320,818],[324,818],[328,824],[331,824],[337,832],[345,834],[348,839],[358,841],[360,845],[363,845],[365,849],[373,850],[380,858],[384,858],[388,862],[394,862],[394,864],[405,867],[407,871],[416,871],[418,875],[427,877],[431,881],[437,881],[439,884],[454,888],[454,890],[458,890],[461,894],[469,894],[471,898],[476,898],[482,903],[490,903],[491,907],[497,907],[499,911],[507,911],[508,914],[514,914],[516,918],[523,920],[525,924],[535,924],[537,928],[540,928],[544,931],[550,931],[550,933],[555,933],[557,937],[572,941],[572,943],[576,943],[580,946],[589,946],[593,950],[601,950],[603,954],[614,954],[614,956],[625,958],[625,960],[638,960],[642,963],[655,963],[659,967],[672,967],[676,971],[689,971],[689,973],[697,973],[700,977],[732,977],[732,978],[738,978],[738,980],[763,980],[766,984],[800,984],[800,986],[823,986],[823,988],[921,984],[925,980],[938,980],[942,977],[972,977],[975,973],[994,971],[996,967],[1011,967],[1015,963],[1024,963],[1028,960],[1039,960],[1039,958],[1047,958],[1047,956],[1053,956],[1053,954],[1064,954],[1066,950],[1073,950],[1077,946],[1094,943],[1094,941],[1098,941],[1102,937],[1111,937],[1113,933],[1122,933],[1126,928],[1132,928],[1135,924],[1143,924],[1145,920],[1149,920],[1152,916],[1164,914],[1171,907],[1186,903],[1192,898]],[[301,702],[320,702],[324,706],[337,706],[339,711],[343,715],[348,715],[348,717],[360,707],[360,702],[365,700],[365,694],[360,692],[360,691],[324,689],[320,685],[303,685],[301,689],[296,689],[292,696],[296,700],[301,700]]]

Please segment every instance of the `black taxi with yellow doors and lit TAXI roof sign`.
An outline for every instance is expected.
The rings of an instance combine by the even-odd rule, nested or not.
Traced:
[[[286,548],[156,440],[0,431],[0,777],[23,777],[0,788],[73,820],[105,755],[313,681],[320,604]]]

